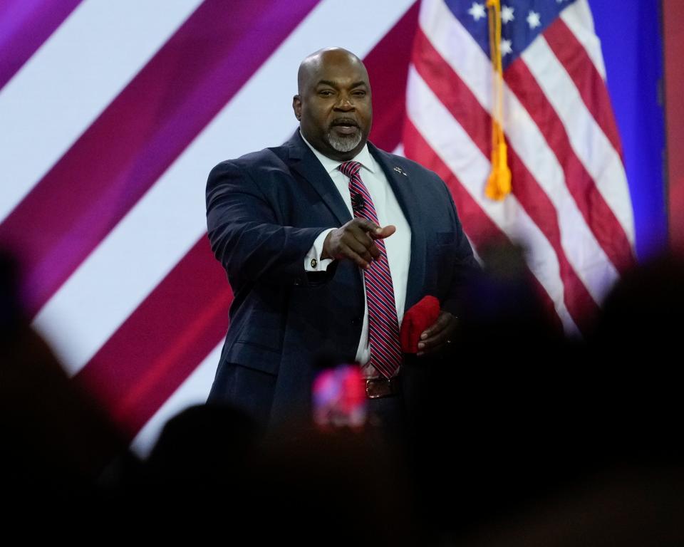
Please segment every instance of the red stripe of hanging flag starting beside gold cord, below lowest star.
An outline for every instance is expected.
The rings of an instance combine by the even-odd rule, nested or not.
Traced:
[[[526,108],[554,151],[563,169],[566,187],[608,259],[618,271],[625,271],[633,266],[632,248],[625,231],[598,191],[594,179],[576,156],[563,122],[522,57],[509,65],[505,78],[509,88]]]

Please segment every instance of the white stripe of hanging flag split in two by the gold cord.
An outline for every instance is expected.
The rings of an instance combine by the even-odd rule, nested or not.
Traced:
[[[437,2],[424,4],[420,25],[432,46],[470,88],[482,107],[491,112],[489,59],[451,11]],[[565,184],[556,155],[539,127],[507,86],[504,88],[504,130],[509,144],[556,209],[561,246],[581,281],[596,302],[601,302],[618,273],[587,226]],[[483,181],[484,184],[484,181]],[[509,198],[507,198],[509,199]]]

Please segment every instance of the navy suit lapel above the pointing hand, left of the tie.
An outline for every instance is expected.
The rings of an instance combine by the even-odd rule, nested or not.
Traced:
[[[349,214],[349,209],[347,209],[340,192],[335,187],[335,183],[330,178],[330,175],[323,169],[323,165],[318,161],[314,152],[311,152],[309,147],[306,146],[306,142],[301,140],[299,130],[295,132],[287,146],[290,169],[299,173],[301,177],[316,189],[316,192],[321,196],[328,209],[335,215],[340,226],[349,222],[351,214]]]

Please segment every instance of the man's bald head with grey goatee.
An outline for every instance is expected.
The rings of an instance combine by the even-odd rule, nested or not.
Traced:
[[[326,48],[304,59],[292,108],[301,134],[333,160],[351,160],[366,145],[373,121],[371,84],[361,59]]]

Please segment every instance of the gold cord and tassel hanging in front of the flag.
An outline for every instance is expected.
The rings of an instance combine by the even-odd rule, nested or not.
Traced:
[[[489,11],[489,51],[494,68],[494,112],[492,113],[492,172],[484,194],[501,201],[511,192],[511,170],[508,168],[508,149],[504,137],[504,73],[501,62],[501,1],[487,0]]]

